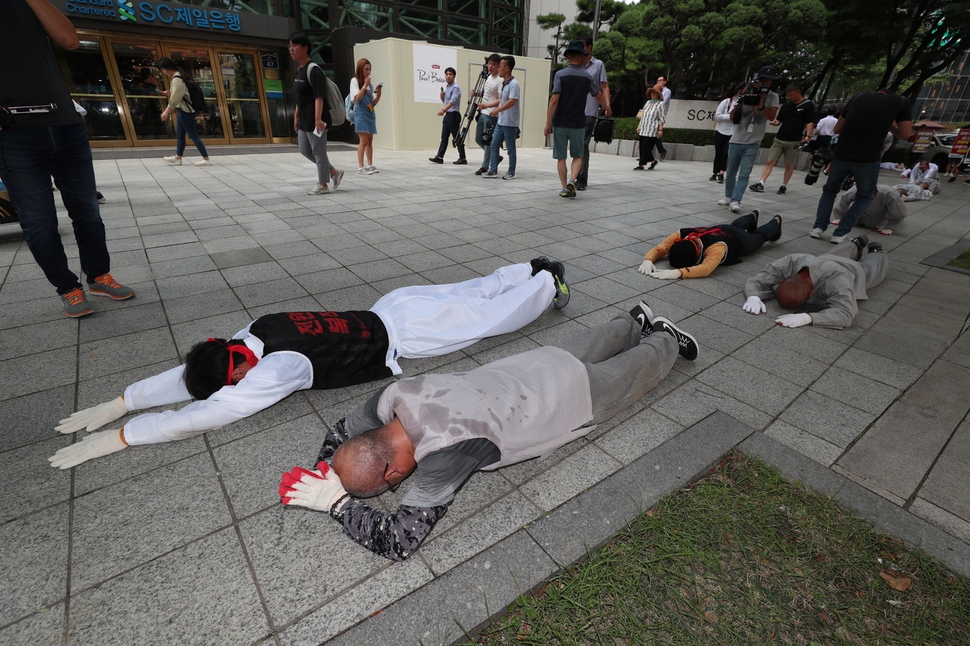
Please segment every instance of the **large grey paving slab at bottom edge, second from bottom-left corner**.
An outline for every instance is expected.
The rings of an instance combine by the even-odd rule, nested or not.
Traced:
[[[240,644],[269,632],[231,528],[75,595],[70,622],[72,644]]]

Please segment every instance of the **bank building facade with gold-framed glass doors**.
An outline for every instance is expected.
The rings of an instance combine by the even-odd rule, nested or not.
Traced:
[[[328,73],[332,32],[352,27],[388,36],[521,55],[526,0],[53,0],[74,23],[81,46],[57,55],[71,95],[87,110],[93,146],[170,141],[162,121],[168,56],[199,83],[206,112],[199,132],[213,144],[290,141],[293,63],[287,37],[305,32]],[[344,45],[345,47],[347,45]],[[349,70],[341,70],[341,76]]]

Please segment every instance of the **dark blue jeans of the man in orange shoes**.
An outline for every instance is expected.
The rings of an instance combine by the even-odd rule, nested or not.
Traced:
[[[98,210],[88,133],[80,121],[66,126],[17,126],[0,131],[0,179],[10,191],[24,240],[58,294],[81,286],[67,266],[57,232],[51,177],[74,227],[81,271],[88,284],[111,271]]]

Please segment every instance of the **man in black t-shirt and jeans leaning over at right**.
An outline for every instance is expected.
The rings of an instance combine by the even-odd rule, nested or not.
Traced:
[[[900,139],[909,139],[912,134],[912,108],[906,97],[885,89],[863,92],[855,95],[842,110],[842,116],[835,124],[839,141],[835,145],[829,178],[822,187],[810,236],[821,238],[825,233],[835,197],[851,173],[858,189],[856,200],[832,233],[832,243],[838,244],[848,237],[876,194],[879,160],[887,131]]]

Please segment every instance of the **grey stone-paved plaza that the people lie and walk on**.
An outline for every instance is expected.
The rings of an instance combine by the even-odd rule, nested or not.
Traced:
[[[0,644],[451,643],[732,450],[970,575],[970,274],[937,266],[970,247],[970,187],[910,203],[893,236],[869,232],[891,267],[851,328],[787,329],[774,301],[767,315],[743,312],[742,286],[770,260],[831,249],[807,235],[821,184],[802,172],[787,195],[774,192],[776,170],[745,196],[762,222],[782,214],[778,243],[709,278],[661,281],[636,271],[647,249],[734,217],[715,204],[709,163],[632,172],[633,159],[596,154],[589,190],[569,200],[550,150],[520,150],[516,180],[488,181],[472,174],[472,149],[468,166],[450,163],[453,150],[437,166],[431,151],[379,149],[369,177],[353,172],[354,148],[331,149],[348,172],[324,196],[306,194],[315,170],[295,146],[214,148],[208,168],[167,166],[169,150],[98,151],[112,273],[137,297],[92,298],[80,320],[64,316],[19,230],[0,227]],[[298,392],[190,440],[48,466],[76,441],[58,420],[208,336],[269,312],[367,309],[397,287],[538,255],[565,262],[565,309],[402,360],[405,375],[556,344],[641,298],[691,332],[700,356],[549,459],[472,476],[408,561],[277,494],[280,474],[312,466],[330,425],[386,381]],[[395,509],[406,489],[378,506]]]

